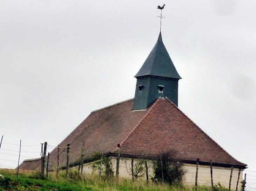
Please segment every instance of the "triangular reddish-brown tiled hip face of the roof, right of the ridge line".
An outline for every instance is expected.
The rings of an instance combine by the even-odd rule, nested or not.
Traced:
[[[176,149],[180,160],[245,166],[234,159],[170,100],[158,99],[154,108],[124,141],[121,153],[156,156]]]

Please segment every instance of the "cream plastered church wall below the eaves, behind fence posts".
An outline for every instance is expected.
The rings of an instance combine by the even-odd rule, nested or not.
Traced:
[[[134,159],[134,164],[136,163],[136,159]],[[116,159],[112,158],[113,170],[116,172]],[[92,168],[92,163],[84,164],[83,172],[85,173],[99,173],[99,171],[95,171]],[[149,170],[149,178],[153,176],[153,165],[150,161],[148,161],[148,170]],[[194,164],[184,164],[184,169],[187,171],[183,177],[183,183],[189,185],[195,185],[195,176],[196,176],[196,165]],[[231,179],[231,189],[236,189],[236,183],[238,178],[239,169],[233,169],[233,175]],[[226,188],[229,187],[229,178],[230,178],[230,168],[223,167],[213,167],[213,183],[214,185],[220,182],[220,184]],[[132,178],[131,175],[131,159],[120,159],[119,163],[119,176]],[[241,189],[241,181],[243,177],[243,171],[241,170],[239,181],[238,181],[238,190]],[[146,174],[144,177],[146,179]],[[198,166],[198,175],[197,175],[197,184],[198,185],[211,185],[211,175],[210,175],[210,166]]]

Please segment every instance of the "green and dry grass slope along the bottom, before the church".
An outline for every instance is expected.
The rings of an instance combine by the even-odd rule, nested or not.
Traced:
[[[56,178],[55,172],[50,172],[48,178],[41,178],[38,171],[20,170],[16,177],[16,170],[0,169],[0,191],[195,191],[194,186],[146,183],[140,179],[132,182],[131,179],[113,178],[108,181],[94,174],[78,174],[70,171],[66,178],[66,172],[62,171]],[[226,191],[226,189],[209,186],[199,186],[197,191]]]

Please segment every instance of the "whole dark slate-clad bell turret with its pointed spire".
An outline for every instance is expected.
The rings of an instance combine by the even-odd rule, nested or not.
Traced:
[[[133,110],[147,109],[158,97],[168,97],[178,106],[178,74],[163,44],[161,32],[137,79]]]

